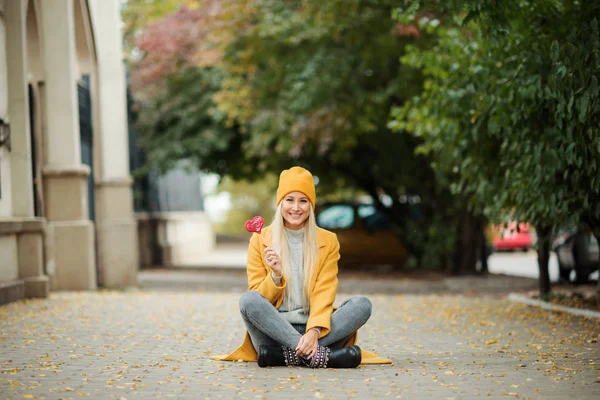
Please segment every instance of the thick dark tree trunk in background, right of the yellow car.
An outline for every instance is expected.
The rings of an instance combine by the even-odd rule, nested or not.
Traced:
[[[474,275],[477,273],[477,260],[483,240],[484,219],[466,211],[457,227],[456,250],[454,253],[453,275]]]

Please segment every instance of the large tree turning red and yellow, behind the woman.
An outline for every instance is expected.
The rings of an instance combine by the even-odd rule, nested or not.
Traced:
[[[391,108],[421,86],[420,75],[398,60],[406,43],[427,40],[399,29],[393,4],[224,2],[202,28],[219,39],[212,47],[221,49],[219,60],[198,66],[184,47],[176,71],[157,80],[159,90],[140,80],[149,93],[142,92],[140,120],[150,159],[168,165],[189,158],[236,179],[307,166],[321,192],[356,186],[371,195],[418,263],[449,262],[440,256],[453,246],[446,239],[454,237],[454,199],[415,154],[420,141],[387,127]],[[203,18],[202,10],[189,12]],[[236,35],[219,32],[224,25]],[[186,35],[176,36],[187,43]],[[140,46],[142,66],[156,56],[150,39]],[[402,194],[420,196],[420,211],[401,203]]]

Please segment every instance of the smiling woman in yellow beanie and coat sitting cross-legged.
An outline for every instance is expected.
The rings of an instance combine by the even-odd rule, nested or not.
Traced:
[[[232,354],[213,359],[256,360],[261,367],[391,363],[354,345],[371,315],[369,299],[351,297],[334,311],[340,245],[317,227],[315,199],[309,171],[281,173],[273,223],[253,234],[248,248],[249,291],[240,299],[246,338]]]

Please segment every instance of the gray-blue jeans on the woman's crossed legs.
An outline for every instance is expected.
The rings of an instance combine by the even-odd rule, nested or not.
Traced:
[[[371,316],[371,301],[364,296],[353,296],[331,314],[331,329],[319,339],[321,346],[341,348]],[[252,339],[254,349],[261,344],[279,345],[295,349],[306,333],[306,325],[289,323],[269,301],[255,290],[240,298],[240,312]]]

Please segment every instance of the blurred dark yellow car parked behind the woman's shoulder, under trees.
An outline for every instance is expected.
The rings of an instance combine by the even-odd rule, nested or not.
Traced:
[[[389,219],[372,204],[321,204],[316,217],[317,225],[337,234],[340,265],[401,267],[408,260],[408,251],[393,234]]]

